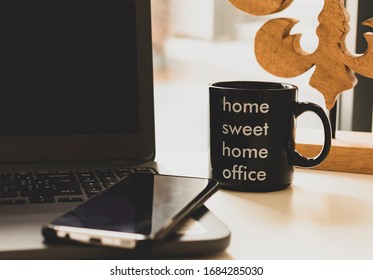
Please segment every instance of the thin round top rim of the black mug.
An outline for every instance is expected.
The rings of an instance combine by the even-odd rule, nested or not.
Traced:
[[[239,86],[240,85],[240,86]],[[247,85],[247,86],[242,86]],[[257,85],[257,87],[250,88],[249,85]],[[268,86],[263,86],[268,85]],[[280,88],[270,87],[272,86],[279,86]],[[216,89],[225,89],[225,90],[237,90],[237,91],[286,91],[286,90],[297,90],[298,87],[296,85],[290,83],[283,83],[283,82],[266,82],[266,81],[221,81],[215,82],[210,84],[210,88]]]

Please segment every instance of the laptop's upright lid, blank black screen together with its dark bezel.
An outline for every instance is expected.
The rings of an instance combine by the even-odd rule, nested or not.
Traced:
[[[0,162],[154,158],[150,8],[0,2]]]

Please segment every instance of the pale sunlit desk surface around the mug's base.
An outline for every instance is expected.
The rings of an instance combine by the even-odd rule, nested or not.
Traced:
[[[169,174],[208,176],[208,151],[160,152]],[[206,203],[231,230],[215,259],[373,259],[373,176],[296,169],[280,192],[220,190]]]

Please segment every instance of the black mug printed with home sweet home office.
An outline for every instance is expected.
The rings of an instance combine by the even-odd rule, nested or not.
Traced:
[[[297,101],[296,86],[276,82],[228,81],[211,84],[210,153],[212,177],[222,188],[269,192],[291,185],[294,166],[320,164],[331,147],[324,110]],[[295,150],[295,119],[306,111],[322,121],[324,145],[315,158]]]

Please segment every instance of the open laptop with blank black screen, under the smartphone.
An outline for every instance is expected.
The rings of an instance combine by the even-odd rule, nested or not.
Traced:
[[[106,248],[45,244],[41,226],[128,173],[158,172],[150,0],[5,2],[0,259],[112,258]],[[197,220],[213,226],[174,236],[164,252],[196,240],[227,246],[210,211]]]

